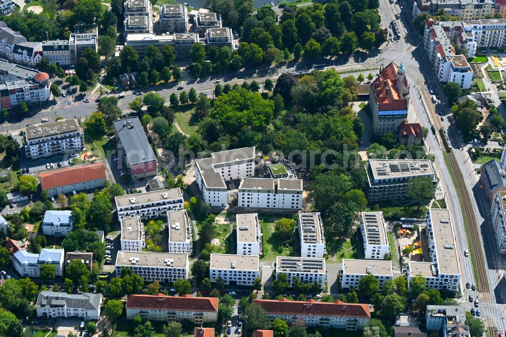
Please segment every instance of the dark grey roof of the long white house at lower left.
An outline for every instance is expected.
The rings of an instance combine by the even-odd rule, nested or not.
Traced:
[[[101,293],[84,292],[70,294],[43,290],[37,297],[37,308],[52,308],[67,304],[69,308],[82,308],[85,310],[100,310]]]

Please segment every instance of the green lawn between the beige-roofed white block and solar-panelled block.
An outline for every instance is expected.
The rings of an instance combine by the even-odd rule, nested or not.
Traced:
[[[259,216],[262,221],[264,256],[262,261],[275,261],[277,256],[293,256],[293,242],[280,240],[274,234],[274,222],[283,217]],[[286,218],[290,218],[286,216]],[[287,245],[289,247],[287,247]]]

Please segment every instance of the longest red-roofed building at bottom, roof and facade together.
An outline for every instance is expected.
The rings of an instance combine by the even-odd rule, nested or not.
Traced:
[[[362,330],[369,322],[371,313],[368,304],[353,304],[335,301],[331,303],[281,300],[253,300],[263,307],[269,318],[279,318],[288,324],[300,318],[308,327]]]

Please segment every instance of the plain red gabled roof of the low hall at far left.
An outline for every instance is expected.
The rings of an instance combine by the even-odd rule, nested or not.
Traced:
[[[61,168],[38,175],[43,190],[53,187],[74,185],[82,182],[105,179],[105,166],[101,162]]]

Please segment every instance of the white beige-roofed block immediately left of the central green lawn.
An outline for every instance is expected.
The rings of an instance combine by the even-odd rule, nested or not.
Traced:
[[[237,214],[235,216],[237,233],[237,255],[264,254],[262,249],[262,227],[258,213]]]

